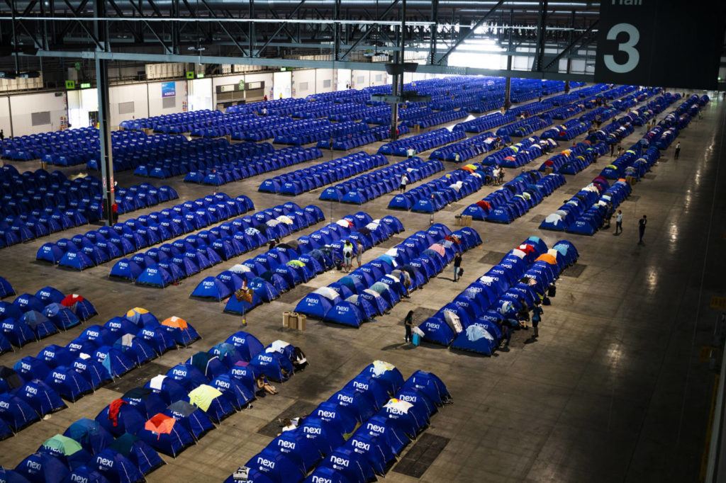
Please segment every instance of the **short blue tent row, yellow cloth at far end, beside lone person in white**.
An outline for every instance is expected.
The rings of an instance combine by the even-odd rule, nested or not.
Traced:
[[[449,203],[468,197],[481,189],[485,178],[486,173],[480,165],[466,165],[405,193],[396,194],[388,202],[388,209],[412,210],[417,213],[437,212]]]

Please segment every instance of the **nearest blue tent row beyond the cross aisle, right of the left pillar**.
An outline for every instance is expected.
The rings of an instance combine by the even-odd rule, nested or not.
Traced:
[[[319,157],[322,157],[322,152],[316,147],[290,146],[216,165],[211,169],[190,171],[187,176],[184,176],[184,181],[221,186],[233,181],[250,178],[250,176],[298,165],[301,162],[317,160]]]

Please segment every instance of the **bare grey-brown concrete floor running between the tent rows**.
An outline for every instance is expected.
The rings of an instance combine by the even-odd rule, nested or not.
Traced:
[[[697,481],[714,384],[709,347],[719,317],[709,304],[712,295],[725,295],[724,284],[718,281],[725,264],[719,255],[726,242],[725,175],[724,170],[719,170],[719,162],[726,154],[725,104],[714,101],[706,106],[703,120],[694,120],[678,138],[682,145],[680,160],[672,159],[672,149],[666,150],[661,162],[637,184],[631,200],[621,207],[622,236],[606,232],[592,237],[563,236],[537,228],[542,216],[554,211],[603,168],[609,159],[604,157],[582,173],[566,176],[566,186],[514,223],[475,222],[474,228],[484,244],[465,254],[463,283],[452,284],[447,269],[376,323],[356,330],[309,321],[307,331],[301,333],[282,329],[281,324],[282,312],[291,310],[299,297],[290,303],[275,301],[256,308],[248,315],[248,331],[264,343],[285,339],[301,346],[311,365],[287,383],[279,384],[280,395],[266,397],[253,408],[235,414],[176,460],[164,457],[168,464],[150,474],[149,480],[221,481],[270,441],[258,430],[283,410],[298,401],[317,404],[327,399],[372,360],[383,359],[395,364],[404,377],[417,369],[433,371],[454,395],[454,405],[434,416],[426,430],[426,434],[450,441],[418,481]],[[642,134],[643,129],[637,128],[623,145],[629,146]],[[378,144],[366,149],[372,152]],[[326,152],[327,159],[330,152]],[[527,168],[536,168],[544,159]],[[34,169],[35,164],[17,166]],[[68,171],[77,172],[78,168]],[[507,179],[514,174],[510,170]],[[258,193],[257,186],[264,177],[231,183],[219,191],[232,196],[247,194],[258,209],[290,199]],[[142,181],[131,173],[118,173],[117,178],[122,185]],[[213,191],[181,183],[181,178],[164,183],[174,186],[182,199]],[[454,215],[493,189],[485,187],[436,213],[436,222],[453,227]],[[299,205],[321,206],[329,219],[359,210],[338,203],[319,203],[319,192],[294,200]],[[389,214],[386,205],[391,196],[360,209],[374,217]],[[134,212],[122,220],[158,209]],[[428,215],[393,214],[401,218],[409,234],[429,223]],[[646,244],[641,247],[636,243],[637,218],[643,214],[648,215],[649,223]],[[319,225],[295,237],[316,228]],[[62,236],[70,237],[86,229],[66,231]],[[442,347],[404,347],[401,321],[408,310],[415,308],[423,314],[426,309],[439,309],[465,284],[481,276],[492,265],[489,259],[507,252],[531,234],[541,236],[548,245],[563,237],[570,239],[579,249],[582,266],[579,276],[560,279],[557,297],[551,307],[545,307],[538,342],[526,343],[529,333],[519,331],[510,351],[492,358],[454,353]],[[119,397],[120,392],[114,389],[123,392],[143,384],[155,373],[166,371],[198,350],[207,350],[240,329],[239,317],[222,313],[222,305],[216,302],[189,299],[189,293],[205,276],[263,251],[237,257],[180,286],[161,290],[108,279],[110,263],[81,273],[36,263],[38,247],[59,237],[1,250],[0,275],[7,277],[19,293],[34,293],[51,284],[62,292],[83,294],[99,310],[90,323],[104,323],[113,315],[142,306],[159,318],[179,315],[187,319],[204,339],[163,355],[152,365],[132,371],[110,387],[0,442],[0,464],[7,467],[15,466],[44,439],[63,432],[77,418],[94,417]],[[364,260],[383,251],[372,249]],[[339,276],[337,272],[325,273],[308,285],[323,286]],[[298,290],[301,296],[306,293]],[[0,364],[12,366],[18,358],[35,355],[46,344],[65,344],[81,330],[71,329],[2,355]],[[386,480],[417,481],[395,471],[390,471]]]

